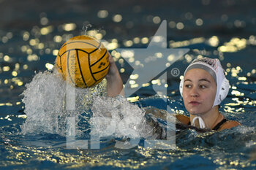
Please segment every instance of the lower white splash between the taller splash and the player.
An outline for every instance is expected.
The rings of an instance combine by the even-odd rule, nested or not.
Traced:
[[[91,134],[106,136],[129,136],[130,138],[152,136],[152,127],[146,124],[145,111],[129,103],[123,96],[117,98],[97,97],[91,107]]]

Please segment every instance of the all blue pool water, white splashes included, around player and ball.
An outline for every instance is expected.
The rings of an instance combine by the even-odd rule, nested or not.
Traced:
[[[0,0],[4,16],[0,18],[1,169],[255,169],[255,6],[251,1],[231,0],[158,1],[157,5],[154,1]],[[84,34],[83,26],[91,24],[86,34],[106,41],[126,83],[132,68],[116,48],[146,48],[162,20],[167,20],[167,47],[189,49],[165,70],[165,82],[159,75],[129,98],[107,98],[105,82],[92,89],[74,89],[52,70],[59,47]],[[156,138],[143,116],[145,110],[188,115],[178,91],[179,76],[192,59],[202,56],[222,62],[231,88],[220,112],[242,125],[206,133],[186,129],[176,134],[172,149],[145,147],[148,138]],[[171,74],[173,68],[181,72],[177,77]],[[134,77],[127,83],[136,85],[140,75]],[[69,90],[77,94],[72,110],[64,107]],[[108,112],[112,119],[104,115]],[[67,148],[67,117],[75,117],[75,139],[88,140],[89,149]],[[153,117],[159,125],[166,124]],[[133,129],[127,131],[122,119]],[[90,148],[92,124],[99,125],[93,132],[102,136],[99,149]],[[105,134],[106,127],[115,132]],[[130,149],[116,147],[127,133],[140,136],[139,142]]]

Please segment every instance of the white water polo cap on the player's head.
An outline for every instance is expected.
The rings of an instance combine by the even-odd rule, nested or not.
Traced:
[[[228,90],[230,88],[230,83],[225,77],[225,71],[222,69],[222,65],[217,58],[200,58],[195,59],[192,63],[189,64],[187,69],[184,72],[185,74],[190,69],[204,69],[206,72],[211,74],[214,77],[215,82],[217,83],[217,93],[214,100],[214,106],[219,105],[226,97]],[[179,90],[182,96],[184,78],[181,79]]]

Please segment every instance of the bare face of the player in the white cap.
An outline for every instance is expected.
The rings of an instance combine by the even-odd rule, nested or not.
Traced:
[[[217,85],[203,69],[191,69],[184,77],[183,100],[190,114],[205,114],[212,109]]]

